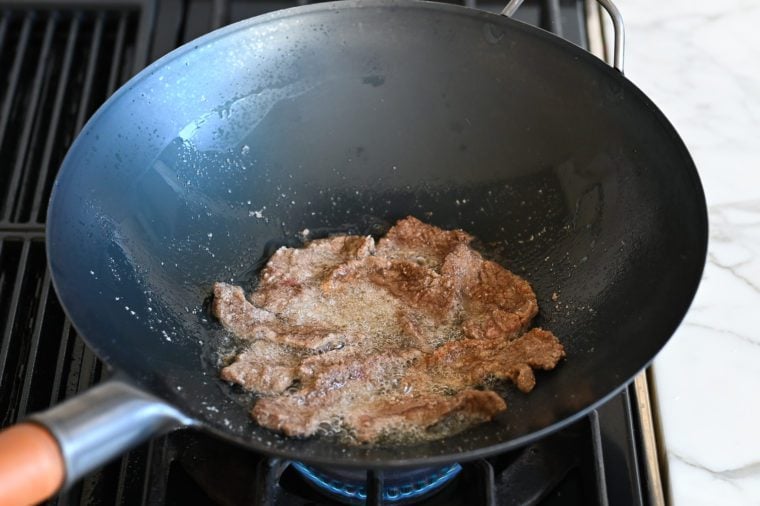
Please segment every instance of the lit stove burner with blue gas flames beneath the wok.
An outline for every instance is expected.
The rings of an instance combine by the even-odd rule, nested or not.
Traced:
[[[348,504],[363,503],[367,499],[365,471],[349,469],[317,469],[300,462],[292,466],[310,483],[331,497]],[[383,501],[403,504],[430,495],[450,482],[462,466],[452,464],[438,468],[424,468],[386,472],[383,481]]]

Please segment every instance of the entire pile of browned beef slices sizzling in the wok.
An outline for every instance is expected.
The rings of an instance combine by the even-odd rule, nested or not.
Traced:
[[[250,301],[217,283],[214,314],[250,341],[222,378],[263,394],[252,416],[290,436],[424,439],[490,420],[506,404],[472,387],[508,379],[528,392],[564,349],[525,333],[533,290],[471,240],[409,217],[377,248],[353,236],[281,248]]]

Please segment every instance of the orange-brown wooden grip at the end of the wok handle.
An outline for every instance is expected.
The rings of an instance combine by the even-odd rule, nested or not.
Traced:
[[[0,432],[0,504],[39,503],[54,495],[65,477],[61,448],[47,429],[22,423]]]

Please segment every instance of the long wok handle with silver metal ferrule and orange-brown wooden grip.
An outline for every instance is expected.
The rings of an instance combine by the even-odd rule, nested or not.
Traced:
[[[107,381],[0,433],[0,504],[39,502],[143,441],[193,424],[166,402]]]

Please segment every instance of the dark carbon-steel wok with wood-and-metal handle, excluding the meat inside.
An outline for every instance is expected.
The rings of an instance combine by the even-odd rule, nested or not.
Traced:
[[[439,441],[343,446],[255,425],[218,379],[229,343],[204,305],[212,284],[250,288],[304,229],[380,235],[407,215],[467,230],[528,279],[535,324],[567,360],[529,395],[507,389],[503,416]],[[400,0],[279,11],[165,56],[87,123],[47,223],[60,300],[116,375],[0,436],[3,504],[180,426],[365,469],[524,445],[649,364],[707,242],[689,153],[620,69],[507,16]]]

